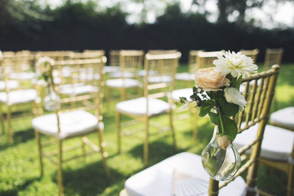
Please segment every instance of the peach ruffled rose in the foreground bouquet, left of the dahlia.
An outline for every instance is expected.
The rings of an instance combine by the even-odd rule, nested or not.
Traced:
[[[230,80],[221,76],[221,72],[214,70],[215,67],[200,69],[195,73],[196,88],[203,88],[204,91],[222,90],[220,87],[230,86]]]

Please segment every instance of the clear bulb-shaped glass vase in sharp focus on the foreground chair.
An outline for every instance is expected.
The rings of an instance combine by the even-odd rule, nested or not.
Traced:
[[[212,139],[201,154],[202,165],[214,180],[229,180],[240,167],[240,154],[232,143],[225,150],[221,148],[217,133],[218,126],[215,125]]]

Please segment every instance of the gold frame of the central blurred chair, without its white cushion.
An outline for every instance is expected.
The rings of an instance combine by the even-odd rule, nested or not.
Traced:
[[[173,129],[173,122],[172,122],[172,105],[173,102],[171,100],[170,96],[167,96],[170,94],[175,85],[175,79],[174,74],[176,73],[176,69],[179,64],[179,59],[181,58],[181,53],[173,53],[173,54],[159,54],[159,55],[145,55],[144,60],[144,69],[146,73],[148,73],[149,70],[154,70],[157,73],[157,76],[164,76],[168,75],[171,77],[170,82],[159,82],[159,83],[153,83],[149,82],[150,77],[154,77],[154,75],[145,75],[144,76],[144,97],[148,100],[149,98],[165,98],[167,97],[168,103],[170,104],[170,109],[164,113],[168,114],[170,124],[169,126],[165,126],[153,121],[150,121],[151,118],[156,117],[161,114],[157,115],[148,115],[148,102],[147,102],[147,110],[146,114],[143,116],[138,115],[130,115],[130,114],[123,114],[119,111],[116,111],[116,125],[117,125],[117,134],[118,134],[118,152],[121,151],[121,137],[124,136],[134,136],[134,134],[138,132],[144,131],[144,146],[143,146],[143,163],[145,166],[148,165],[148,144],[149,144],[149,136],[151,135],[149,133],[149,127],[156,127],[159,128],[160,132],[163,131],[170,131],[172,133],[173,137],[173,146],[176,150],[176,138],[175,133]],[[134,120],[121,123],[121,115],[127,115],[133,118]],[[141,123],[143,122],[143,130],[142,127],[137,127],[129,131],[122,131],[122,129],[126,129],[130,125]],[[158,134],[158,132],[156,132]]]

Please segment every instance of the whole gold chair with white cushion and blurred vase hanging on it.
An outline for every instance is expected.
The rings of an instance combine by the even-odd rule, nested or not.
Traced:
[[[106,177],[110,178],[106,164],[107,152],[105,151],[106,143],[103,141],[104,125],[101,113],[105,74],[103,66],[105,63],[106,57],[51,62],[50,79],[48,80],[50,88],[43,104],[45,109],[54,110],[54,113],[34,118],[32,125],[39,147],[41,174],[43,175],[42,159],[47,157],[58,168],[59,195],[64,195],[62,163],[68,160],[101,152]],[[56,75],[54,70],[62,70],[64,66],[70,67],[71,75],[63,77],[62,83],[54,84],[54,77],[62,74],[61,71],[60,75]],[[86,137],[87,134],[95,132],[99,139],[98,146]],[[53,138],[53,141],[41,142],[41,136],[44,135]],[[81,137],[82,145],[63,146],[64,140],[74,137]],[[46,146],[52,143],[56,144],[57,149],[45,152]],[[92,151],[86,151],[86,146],[89,146]],[[63,157],[63,154],[66,154],[67,151],[79,147],[83,149],[81,155],[68,159]]]

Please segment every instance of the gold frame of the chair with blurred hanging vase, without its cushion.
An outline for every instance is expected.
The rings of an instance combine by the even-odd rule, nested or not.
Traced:
[[[101,58],[97,58],[97,59],[84,59],[84,60],[67,60],[67,61],[55,61],[55,62],[51,62],[51,69],[50,69],[50,78],[51,78],[51,82],[49,82],[49,85],[52,85],[51,90],[54,90],[57,94],[58,94],[58,85],[54,85],[54,74],[53,74],[53,70],[61,70],[61,68],[63,66],[74,66],[75,68],[71,67],[71,71],[72,74],[74,75],[75,72],[79,72],[81,71],[82,67],[91,65],[94,70],[97,72],[99,72],[99,79],[96,79],[95,77],[92,77],[91,81],[88,81],[88,78],[84,79],[84,82],[86,82],[86,80],[88,81],[88,83],[93,84],[93,86],[95,85],[98,89],[96,92],[92,92],[89,94],[82,94],[82,95],[78,95],[78,96],[74,96],[74,97],[64,97],[61,98],[60,102],[61,104],[67,104],[67,103],[74,103],[74,102],[83,102],[85,101],[85,106],[83,107],[77,107],[77,108],[73,108],[71,107],[70,109],[66,108],[64,110],[61,109],[57,109],[54,113],[56,114],[57,117],[57,122],[58,122],[58,133],[60,133],[61,131],[61,127],[59,125],[59,115],[61,113],[64,112],[69,112],[69,111],[75,111],[75,110],[94,110],[94,115],[97,117],[98,119],[98,127],[96,129],[96,133],[99,139],[99,147],[97,145],[95,145],[94,143],[92,143],[86,136],[85,134],[83,135],[78,135],[78,136],[82,136],[82,149],[83,149],[83,153],[81,155],[77,155],[71,158],[68,158],[67,160],[64,160],[62,158],[62,154],[64,152],[67,151],[72,151],[74,149],[77,149],[79,146],[66,146],[63,147],[62,146],[62,141],[68,138],[73,138],[73,137],[78,137],[78,136],[72,136],[72,137],[66,137],[66,138],[58,138],[55,136],[50,136],[53,137],[53,140],[51,141],[46,141],[46,142],[41,142],[41,134],[38,130],[35,129],[35,137],[36,137],[36,141],[38,144],[38,148],[39,148],[39,162],[40,162],[40,166],[41,166],[41,175],[44,174],[44,169],[43,169],[43,161],[42,158],[46,157],[48,158],[52,163],[54,163],[55,165],[57,165],[57,183],[58,183],[58,187],[59,187],[59,195],[64,195],[64,185],[63,185],[63,174],[62,174],[62,163],[69,161],[69,160],[73,160],[75,158],[79,158],[79,157],[84,157],[86,155],[90,155],[93,153],[97,153],[97,152],[101,152],[102,155],[102,163],[103,163],[103,167],[106,173],[106,178],[107,180],[110,180],[110,173],[108,170],[108,166],[106,163],[106,157],[108,156],[106,150],[105,150],[105,146],[106,143],[104,142],[103,139],[103,116],[102,116],[102,112],[101,109],[103,107],[103,96],[104,96],[104,75],[105,75],[105,71],[103,70],[103,66],[106,63],[106,57],[103,56]],[[71,82],[72,85],[74,85],[74,82],[81,82],[82,80],[78,80],[75,79],[76,77],[73,77],[73,75],[71,75],[71,78],[68,78],[68,80]],[[65,79],[65,78],[63,78]],[[66,79],[65,79],[66,80]],[[92,100],[90,104],[90,101]],[[71,104],[71,106],[75,106],[75,104]],[[92,132],[91,132],[92,133]],[[89,134],[89,133],[87,133]],[[49,146],[51,144],[57,144],[57,150],[53,150],[50,152],[44,152],[42,150],[43,147]],[[88,146],[92,149],[92,151],[86,152],[85,151],[85,146]],[[57,161],[54,160],[52,158],[52,156],[57,156]]]

